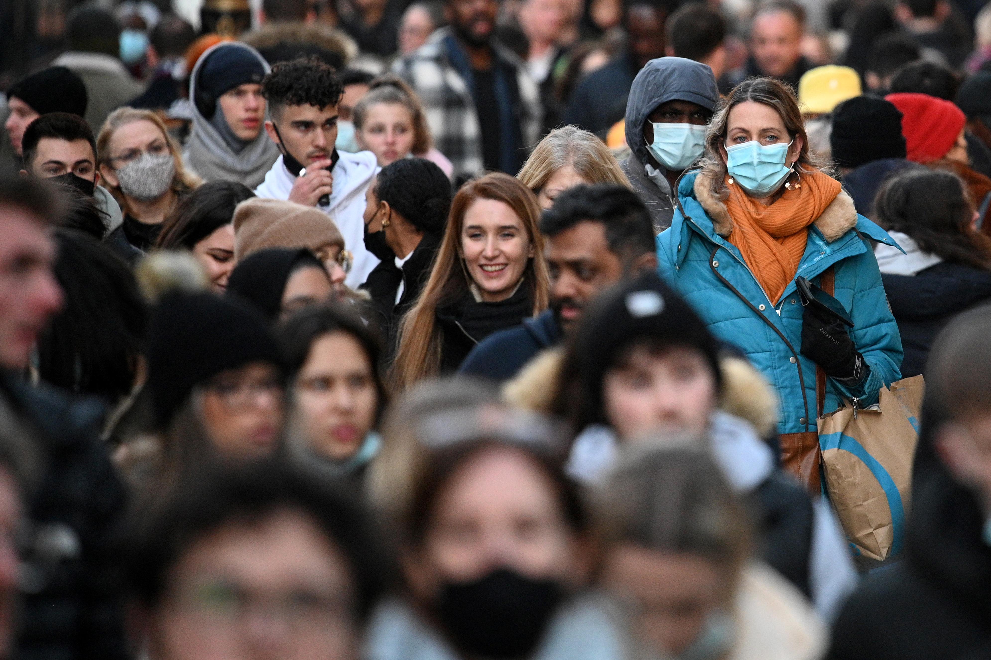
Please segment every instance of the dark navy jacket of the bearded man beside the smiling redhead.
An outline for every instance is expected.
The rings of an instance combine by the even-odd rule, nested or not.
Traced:
[[[561,327],[550,309],[536,318],[508,330],[495,332],[472,349],[458,369],[459,374],[478,376],[502,383],[544,349],[562,339]]]

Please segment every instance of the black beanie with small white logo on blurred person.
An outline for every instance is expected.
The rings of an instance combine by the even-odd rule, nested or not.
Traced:
[[[606,423],[603,379],[623,349],[639,341],[697,349],[713,369],[721,391],[716,338],[678,293],[656,273],[606,290],[586,311],[575,335],[582,388],[590,421]]]

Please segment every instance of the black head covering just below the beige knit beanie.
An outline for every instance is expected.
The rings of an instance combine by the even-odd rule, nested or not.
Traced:
[[[323,270],[320,260],[306,248],[260,250],[235,267],[227,280],[227,295],[240,297],[275,321],[289,275],[309,267]]]

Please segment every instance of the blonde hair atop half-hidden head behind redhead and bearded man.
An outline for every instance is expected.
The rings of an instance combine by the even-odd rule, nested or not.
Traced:
[[[558,169],[571,165],[589,183],[613,183],[630,187],[629,179],[606,143],[576,126],[554,129],[526,159],[516,178],[538,194]]]

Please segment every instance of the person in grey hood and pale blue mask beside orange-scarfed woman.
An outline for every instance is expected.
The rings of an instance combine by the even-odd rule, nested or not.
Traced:
[[[718,102],[713,69],[684,57],[651,59],[633,78],[626,102],[630,155],[620,165],[657,234],[671,226],[675,181],[702,156]]]

